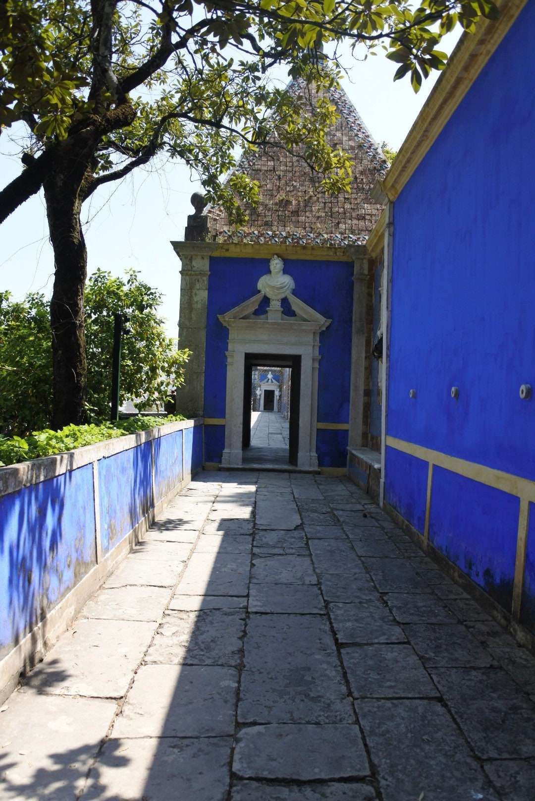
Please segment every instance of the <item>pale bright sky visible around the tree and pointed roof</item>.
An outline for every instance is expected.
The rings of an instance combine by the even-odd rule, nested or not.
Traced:
[[[440,44],[450,51],[458,34]],[[429,76],[415,95],[407,78],[393,83],[396,64],[382,54],[356,60],[342,55],[347,75],[342,81],[352,103],[376,142],[398,150],[420,108],[432,90],[438,73]],[[286,70],[276,79],[288,83]],[[20,171],[17,156],[10,155],[6,135],[0,137],[2,185]],[[82,208],[88,254],[88,273],[102,268],[123,276],[127,268],[139,270],[143,280],[163,293],[161,315],[169,336],[177,336],[180,296],[180,261],[170,240],[183,239],[187,215],[193,212],[191,193],[199,183],[191,181],[180,163],[152,163],[134,171],[121,182],[107,184]],[[28,292],[50,297],[54,258],[46,226],[42,192],[19,207],[0,226],[0,290],[14,300]]]

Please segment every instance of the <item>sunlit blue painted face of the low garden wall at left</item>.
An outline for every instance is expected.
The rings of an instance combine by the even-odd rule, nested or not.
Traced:
[[[203,426],[164,434],[153,447],[158,502],[202,467]],[[98,470],[101,543],[109,553],[153,503],[151,442],[101,458]],[[95,528],[92,462],[0,497],[0,658],[95,566]]]

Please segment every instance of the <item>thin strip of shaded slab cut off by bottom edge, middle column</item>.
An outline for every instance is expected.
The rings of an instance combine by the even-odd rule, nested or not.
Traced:
[[[371,787],[347,782],[288,785],[238,780],[233,784],[231,792],[231,801],[375,801],[375,799],[376,794]]]

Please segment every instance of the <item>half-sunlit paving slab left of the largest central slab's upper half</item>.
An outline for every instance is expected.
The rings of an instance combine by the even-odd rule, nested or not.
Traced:
[[[244,628],[245,614],[235,610],[170,612],[158,627],[145,662],[237,667]]]

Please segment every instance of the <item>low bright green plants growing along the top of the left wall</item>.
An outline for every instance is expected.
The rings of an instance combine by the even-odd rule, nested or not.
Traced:
[[[183,420],[186,418],[182,415],[129,417],[127,420],[117,423],[66,425],[60,431],[51,429],[32,431],[26,437],[0,436],[0,467],[52,456],[54,453],[65,453],[65,451],[82,448],[84,445],[95,445],[95,442],[125,437],[127,434],[155,429],[159,425]]]

